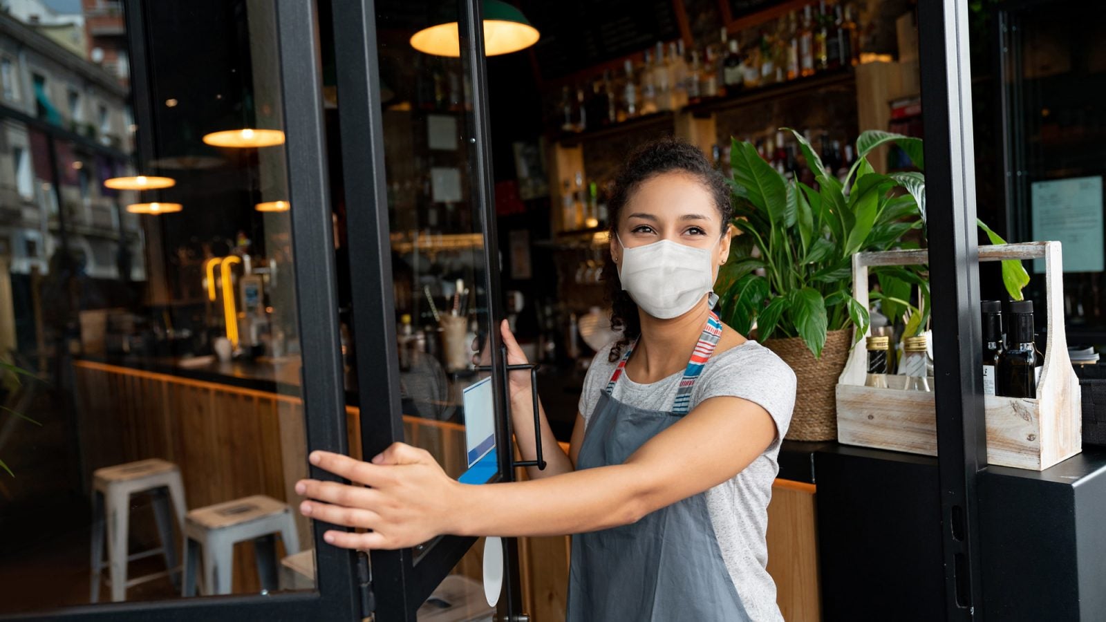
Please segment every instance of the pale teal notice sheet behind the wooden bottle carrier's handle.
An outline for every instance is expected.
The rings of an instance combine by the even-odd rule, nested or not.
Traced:
[[[1034,182],[1030,200],[1033,239],[1063,245],[1065,272],[1103,271],[1102,177]],[[1033,269],[1044,272],[1044,260]]]

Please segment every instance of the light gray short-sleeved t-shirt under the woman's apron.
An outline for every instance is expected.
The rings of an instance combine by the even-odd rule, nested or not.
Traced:
[[[584,379],[580,414],[585,424],[617,366],[607,360],[609,352],[607,345],[595,355]],[[670,410],[682,374],[649,384],[638,384],[623,374],[613,397],[635,407]],[[795,373],[771,350],[747,341],[707,361],[691,392],[692,412],[703,400],[719,396],[759,404],[775,422],[776,437],[768,449],[732,479],[709,488],[707,507],[726,568],[750,618],[757,622],[783,620],[775,602],[775,582],[766,569],[764,536],[772,481],[780,470],[780,440],[787,433],[795,405]]]

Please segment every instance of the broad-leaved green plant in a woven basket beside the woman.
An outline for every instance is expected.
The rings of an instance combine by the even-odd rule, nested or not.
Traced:
[[[883,175],[873,169],[867,155],[895,143],[919,169],[924,156],[919,138],[864,132],[856,141],[856,163],[838,179],[802,134],[790,131],[817,187],[786,179],[752,144],[732,142],[733,226],[740,235],[733,239],[734,251],[716,291],[723,321],[744,334],[755,326],[757,339],[795,370],[799,398],[787,437],[828,440],[836,438],[837,376],[854,339],[864,335],[869,321],[868,310],[852,296],[853,255],[918,248],[925,239],[922,173]],[[991,239],[1001,242],[997,236]],[[926,268],[887,267],[874,269],[873,274],[879,282],[873,299],[881,301],[884,311],[893,319],[915,311],[906,331],[925,331]],[[1012,286],[1022,276],[1029,280],[1020,262],[1003,262],[1003,279],[1015,299],[1024,281]],[[917,305],[910,303],[914,288],[918,288]]]

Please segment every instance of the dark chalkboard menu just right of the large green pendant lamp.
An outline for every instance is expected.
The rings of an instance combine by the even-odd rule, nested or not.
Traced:
[[[672,0],[529,0],[521,8],[542,34],[534,54],[546,80],[680,37]]]

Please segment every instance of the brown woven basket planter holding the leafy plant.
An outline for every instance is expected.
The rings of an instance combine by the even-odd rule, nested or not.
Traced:
[[[815,359],[797,336],[764,342],[765,348],[791,365],[799,383],[791,427],[784,436],[787,440],[837,439],[837,376],[848,360],[852,336],[852,328],[830,331],[821,359]]]

